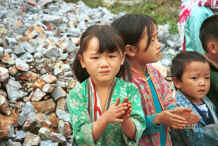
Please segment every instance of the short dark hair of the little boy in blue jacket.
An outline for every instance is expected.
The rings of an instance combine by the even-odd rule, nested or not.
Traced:
[[[175,77],[176,79],[181,81],[186,65],[193,61],[208,63],[203,55],[195,51],[187,51],[177,54],[172,60],[172,77]]]

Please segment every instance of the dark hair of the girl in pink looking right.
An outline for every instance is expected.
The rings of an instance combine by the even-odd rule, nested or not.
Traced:
[[[157,23],[153,18],[147,15],[126,14],[116,19],[111,25],[121,33],[125,45],[136,45],[142,38],[146,28],[148,43],[145,50],[147,50],[151,43],[154,26],[157,25]]]

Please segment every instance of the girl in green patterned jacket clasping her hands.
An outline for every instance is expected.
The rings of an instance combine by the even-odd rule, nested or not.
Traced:
[[[94,25],[82,34],[73,64],[81,84],[67,99],[73,145],[137,145],[145,121],[137,87],[116,77],[124,59],[123,41],[111,26]]]

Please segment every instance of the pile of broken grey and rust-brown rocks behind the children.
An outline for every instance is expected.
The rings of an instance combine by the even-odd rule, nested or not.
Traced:
[[[70,145],[66,97],[80,35],[119,15],[62,0],[0,0],[0,10],[0,145]]]

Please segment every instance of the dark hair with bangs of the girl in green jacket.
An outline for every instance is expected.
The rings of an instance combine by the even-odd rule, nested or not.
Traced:
[[[88,72],[85,68],[82,68],[80,61],[78,59],[79,55],[88,47],[89,41],[92,38],[97,38],[99,41],[99,53],[103,52],[115,52],[121,51],[124,53],[124,43],[118,31],[109,25],[93,25],[86,29],[80,38],[80,48],[76,54],[76,58],[73,62],[74,74],[79,82],[83,82],[89,77]],[[121,66],[118,76],[122,74],[123,67]]]

